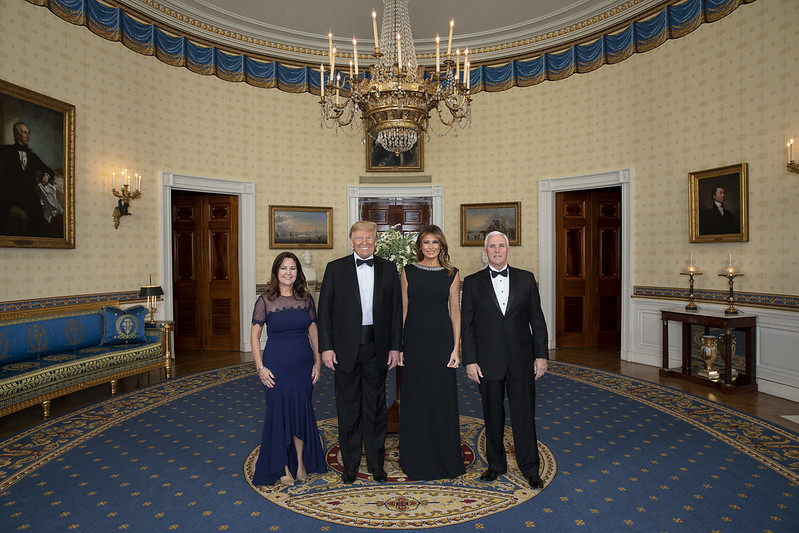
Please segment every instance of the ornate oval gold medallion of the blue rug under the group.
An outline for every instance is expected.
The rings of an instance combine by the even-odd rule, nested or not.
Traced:
[[[366,460],[355,483],[345,485],[338,448],[335,418],[318,422],[322,448],[332,471],[310,474],[308,481],[293,487],[280,483],[254,486],[252,477],[258,460],[256,447],[244,463],[244,475],[250,487],[263,498],[285,509],[341,525],[366,528],[420,529],[461,524],[505,511],[535,497],[542,489],[531,489],[521,475],[513,448],[513,434],[505,429],[508,472],[492,483],[480,481],[486,468],[485,429],[482,419],[460,417],[461,450],[466,474],[455,479],[412,481],[399,467],[399,438],[386,439],[385,470],[387,483],[375,483],[366,471]],[[538,443],[541,479],[544,486],[557,470],[552,452]]]

